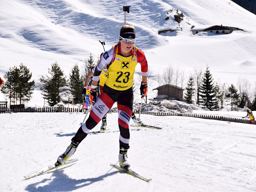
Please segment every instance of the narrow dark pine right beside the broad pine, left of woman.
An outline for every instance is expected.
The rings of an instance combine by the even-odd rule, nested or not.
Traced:
[[[83,88],[83,80],[79,74],[78,65],[74,65],[72,68],[72,73],[69,74],[69,90],[73,95],[74,104],[77,104],[81,101],[81,90]]]

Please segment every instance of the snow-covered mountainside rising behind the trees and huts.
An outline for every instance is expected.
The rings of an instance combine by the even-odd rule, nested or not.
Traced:
[[[212,73],[214,81],[236,84],[246,78],[255,86],[256,15],[231,0],[3,0],[0,9],[0,76],[23,63],[32,72],[36,89],[27,107],[43,106],[38,88],[40,76],[57,62],[65,75],[77,63],[82,68],[90,53],[96,59],[116,43],[124,24],[123,6],[131,6],[126,23],[136,28],[136,46],[142,49],[153,80],[148,98],[153,99],[157,76],[169,65],[180,68],[187,78],[194,68]],[[181,22],[174,15],[181,16]],[[167,19],[168,18],[168,19]],[[192,26],[223,25],[241,28],[228,35],[206,32],[192,36]],[[161,30],[172,30],[158,34]],[[137,75],[140,66],[136,68]],[[137,76],[135,76],[135,83]],[[178,86],[181,86],[178,84]],[[4,100],[3,94],[0,100]],[[135,90],[135,101],[140,100]]]

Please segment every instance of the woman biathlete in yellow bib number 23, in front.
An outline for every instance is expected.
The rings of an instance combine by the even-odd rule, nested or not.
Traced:
[[[137,63],[141,64],[142,82],[140,86],[141,98],[148,92],[147,75],[148,62],[144,52],[134,46],[136,41],[135,28],[129,24],[120,28],[119,42],[104,52],[97,64],[92,77],[92,90],[89,99],[94,104],[90,116],[78,129],[72,138],[71,144],[61,154],[55,165],[65,163],[76,151],[79,143],[105,116],[112,105],[117,101],[119,136],[119,164],[122,167],[130,167],[127,161],[129,149],[129,121],[132,115],[132,81]],[[100,97],[97,98],[96,88],[101,71],[108,67],[107,80],[104,84]],[[97,100],[97,102],[96,102]]]

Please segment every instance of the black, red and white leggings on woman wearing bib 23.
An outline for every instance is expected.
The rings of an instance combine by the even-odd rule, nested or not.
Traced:
[[[118,126],[120,130],[119,144],[121,147],[129,146],[130,131],[129,121],[132,115],[132,88],[125,91],[118,91],[108,87],[103,87],[97,102],[94,104],[90,116],[86,122],[78,129],[75,137],[76,142],[81,142],[87,134],[100,122],[100,120],[108,113],[108,110],[117,102],[118,108]]]

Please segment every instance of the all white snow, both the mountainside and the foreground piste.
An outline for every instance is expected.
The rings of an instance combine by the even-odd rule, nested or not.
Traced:
[[[68,76],[81,67],[90,53],[96,58],[116,43],[124,24],[123,6],[131,6],[126,21],[136,27],[138,41],[153,77],[148,98],[159,84],[157,75],[170,64],[184,70],[209,66],[215,81],[236,84],[246,78],[255,86],[256,16],[231,0],[2,0],[0,8],[0,76],[23,63],[38,86],[40,76],[56,62]],[[180,23],[174,15],[183,14]],[[168,18],[169,19],[166,19]],[[229,35],[199,33],[190,28],[223,25],[244,29]],[[159,30],[174,30],[158,34]],[[136,68],[137,75],[140,66]],[[135,83],[139,82],[136,80]],[[140,101],[135,89],[135,101]],[[0,93],[0,101],[4,100]],[[162,101],[154,108],[191,107],[179,101]],[[26,107],[44,105],[36,87]],[[151,106],[143,103],[145,110]],[[134,108],[139,105],[135,102]],[[194,114],[241,118],[244,111],[202,111]],[[255,111],[253,111],[255,115]],[[138,117],[138,116],[137,116]],[[64,152],[84,119],[81,113],[0,114],[1,191],[15,192],[113,192],[113,191],[256,191],[255,125],[184,116],[141,114],[144,123],[163,129],[130,127],[128,159],[132,170],[150,182],[112,168],[118,164],[118,114],[107,116],[108,132],[88,136],[72,156],[74,164],[30,180],[23,176],[54,163]],[[248,119],[248,117],[247,117]],[[134,125],[130,121],[130,125]],[[98,124],[93,131],[100,129]]]

